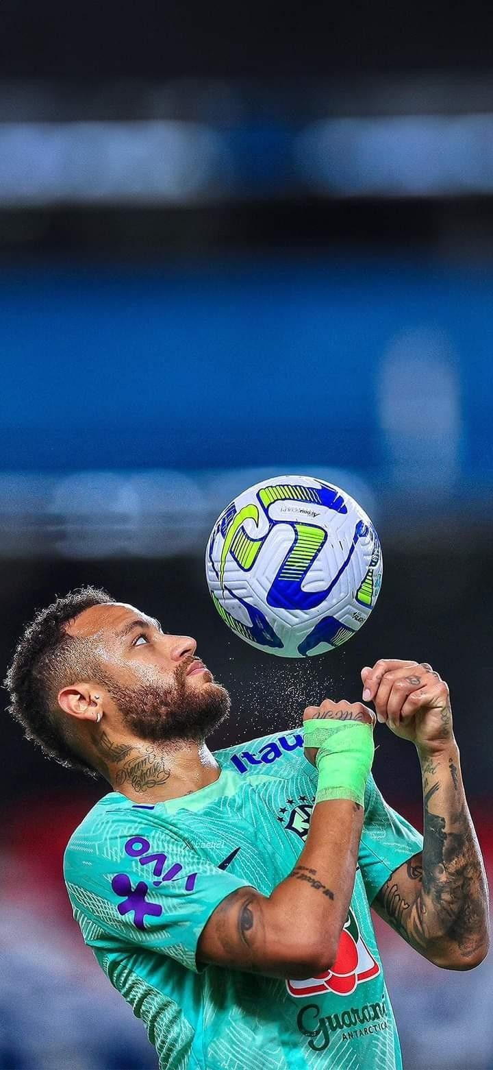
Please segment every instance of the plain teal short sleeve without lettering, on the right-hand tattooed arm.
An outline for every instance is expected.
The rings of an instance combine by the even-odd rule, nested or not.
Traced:
[[[422,851],[422,836],[385,801],[373,777],[365,792],[358,862],[369,903],[399,866]]]

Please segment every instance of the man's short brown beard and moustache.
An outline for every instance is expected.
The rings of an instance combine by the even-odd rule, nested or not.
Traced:
[[[170,683],[125,688],[113,681],[107,687],[125,728],[155,744],[203,743],[228,717],[231,701],[220,684],[195,687],[187,683],[190,662],[179,666]]]

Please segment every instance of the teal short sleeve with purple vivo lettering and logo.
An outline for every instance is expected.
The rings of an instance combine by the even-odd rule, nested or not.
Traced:
[[[161,825],[145,826],[139,836],[112,834],[107,842],[78,840],[75,832],[64,877],[89,946],[138,945],[196,973],[197,944],[209,918],[227,896],[249,886]]]

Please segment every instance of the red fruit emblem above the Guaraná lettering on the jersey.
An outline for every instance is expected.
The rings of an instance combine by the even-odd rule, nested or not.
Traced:
[[[356,918],[350,911],[341,932],[333,968],[324,970],[318,977],[287,981],[286,985],[290,995],[295,998],[320,995],[323,992],[348,996],[354,992],[357,984],[371,980],[378,974],[380,974],[379,963],[361,939]]]

